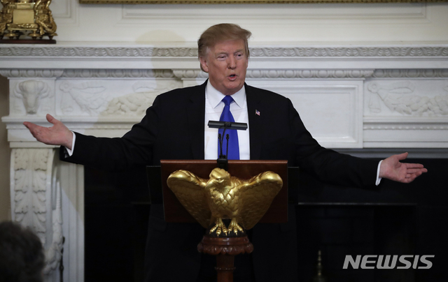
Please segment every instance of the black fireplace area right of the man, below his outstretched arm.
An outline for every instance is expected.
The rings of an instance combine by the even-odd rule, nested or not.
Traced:
[[[324,184],[300,175],[297,244],[300,278],[311,281],[318,250],[328,281],[448,281],[447,159],[409,159],[428,173],[411,184]],[[435,255],[430,269],[342,269],[345,255]],[[419,264],[418,266],[424,266]]]

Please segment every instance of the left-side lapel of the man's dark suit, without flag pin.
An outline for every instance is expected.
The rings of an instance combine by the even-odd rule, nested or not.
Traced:
[[[193,91],[189,94],[188,112],[188,128],[191,151],[194,159],[204,159],[204,120],[205,120],[205,86],[207,81],[198,86],[193,87]]]

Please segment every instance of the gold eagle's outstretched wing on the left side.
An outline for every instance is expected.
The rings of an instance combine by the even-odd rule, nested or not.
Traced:
[[[176,170],[167,179],[167,185],[176,198],[204,228],[209,227],[211,217],[204,192],[207,181],[187,170]]]

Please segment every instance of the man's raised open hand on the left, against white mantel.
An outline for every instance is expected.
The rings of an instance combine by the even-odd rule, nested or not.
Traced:
[[[71,143],[73,142],[73,133],[67,128],[62,121],[58,121],[51,114],[47,114],[47,120],[51,127],[38,126],[29,121],[25,121],[23,125],[27,126],[29,132],[39,142],[48,145],[59,145],[71,149]]]

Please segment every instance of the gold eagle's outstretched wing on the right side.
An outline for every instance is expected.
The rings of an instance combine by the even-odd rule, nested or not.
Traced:
[[[253,228],[265,215],[282,186],[281,177],[271,171],[262,172],[244,181],[239,186],[242,208],[239,212],[238,223],[246,229]]]

